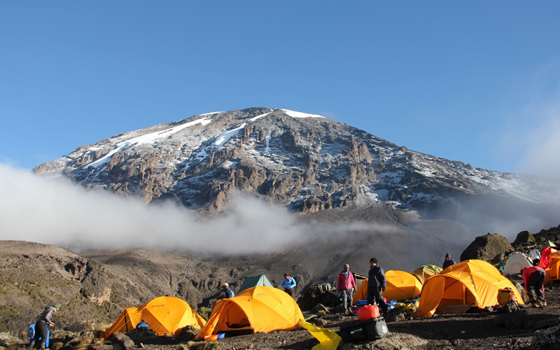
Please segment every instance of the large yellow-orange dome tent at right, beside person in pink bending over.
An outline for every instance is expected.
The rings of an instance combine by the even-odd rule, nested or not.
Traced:
[[[414,316],[432,316],[440,305],[493,307],[498,304],[500,288],[511,288],[523,304],[517,288],[496,267],[482,260],[465,260],[426,279]]]

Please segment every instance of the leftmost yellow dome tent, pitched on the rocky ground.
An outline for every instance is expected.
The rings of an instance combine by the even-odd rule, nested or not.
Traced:
[[[102,332],[101,339],[109,338],[116,332],[134,330],[142,320],[146,321],[157,335],[179,335],[187,325],[202,328],[206,324],[204,318],[186,301],[177,297],[156,297],[146,304],[125,308],[117,321]]]

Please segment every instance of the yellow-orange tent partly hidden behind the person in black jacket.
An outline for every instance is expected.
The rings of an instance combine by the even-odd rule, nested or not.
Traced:
[[[386,300],[405,300],[420,295],[422,283],[412,274],[404,271],[389,270],[385,272],[387,288],[383,292]],[[367,299],[367,279],[362,281],[352,298],[352,303]]]

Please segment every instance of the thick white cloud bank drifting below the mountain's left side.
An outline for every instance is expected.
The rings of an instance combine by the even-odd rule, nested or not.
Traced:
[[[87,191],[0,164],[0,239],[84,249],[159,248],[219,253],[274,251],[304,237],[286,209],[238,197],[228,213],[200,220],[174,204],[147,205]]]

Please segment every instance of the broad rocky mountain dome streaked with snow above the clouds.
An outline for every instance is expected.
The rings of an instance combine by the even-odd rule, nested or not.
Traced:
[[[34,171],[146,202],[218,211],[236,192],[306,213],[385,202],[439,218],[474,195],[552,205],[552,214],[560,205],[559,179],[475,168],[286,109],[207,113],[146,127],[78,147]]]

